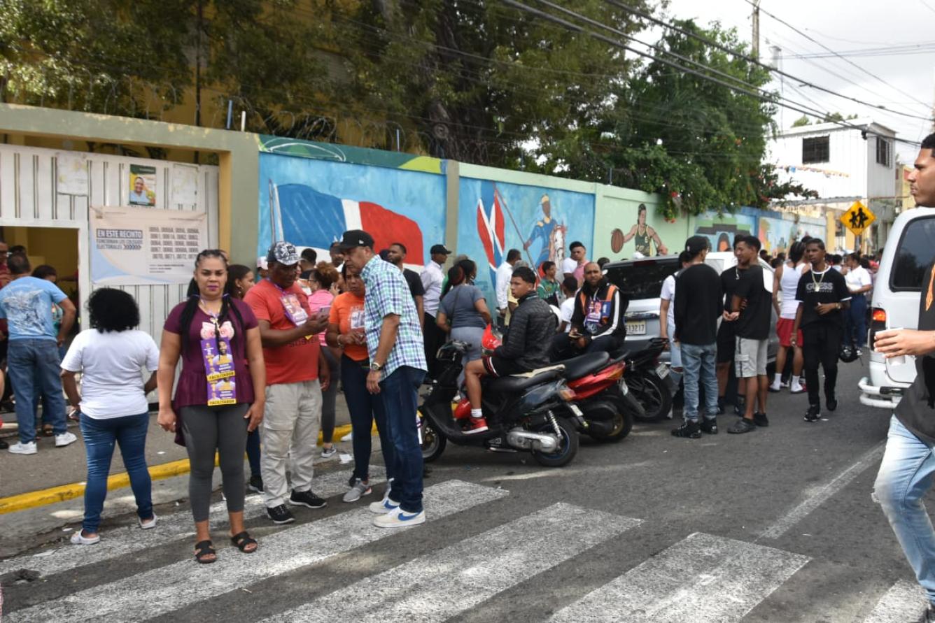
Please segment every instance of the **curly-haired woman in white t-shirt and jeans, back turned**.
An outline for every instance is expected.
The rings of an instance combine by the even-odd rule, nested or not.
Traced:
[[[159,349],[149,333],[136,329],[139,308],[122,290],[94,290],[88,299],[91,329],[79,333],[62,361],[62,385],[68,401],[80,408],[81,435],[88,457],[84,520],[71,542],[94,545],[108,494],[114,443],[137,499],[139,527],[155,528],[152,487],[146,466],[146,432],[150,425],[146,394],[156,388]],[[146,370],[149,380],[143,381]],[[81,373],[81,393],[75,375]]]

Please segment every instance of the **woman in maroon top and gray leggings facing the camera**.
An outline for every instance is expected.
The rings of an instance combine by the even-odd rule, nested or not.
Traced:
[[[247,432],[263,420],[266,367],[256,318],[249,305],[230,296],[232,286],[223,252],[199,253],[188,300],[165,319],[159,354],[158,422],[166,431],[181,432],[188,449],[197,541],[194,558],[202,563],[217,559],[208,525],[215,451],[220,456],[231,542],[248,554],[257,546],[243,527],[243,450]],[[261,390],[254,393],[253,388]]]

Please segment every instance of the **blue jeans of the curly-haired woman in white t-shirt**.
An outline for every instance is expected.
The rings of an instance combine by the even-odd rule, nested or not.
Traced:
[[[88,483],[84,487],[85,532],[96,532],[101,523],[101,509],[108,496],[110,460],[114,456],[114,442],[120,444],[123,466],[130,476],[130,487],[137,499],[137,516],[152,517],[152,485],[146,469],[146,432],[150,427],[150,414],[122,418],[94,419],[80,416],[81,435],[88,455]]]

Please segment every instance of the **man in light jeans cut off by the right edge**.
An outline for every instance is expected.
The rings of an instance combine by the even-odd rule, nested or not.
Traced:
[[[935,207],[935,134],[922,141],[909,184],[915,205]],[[935,531],[922,502],[935,474],[935,266],[921,286],[918,330],[880,332],[873,345],[886,359],[916,358],[913,385],[890,419],[874,495],[928,596],[921,620],[935,621]]]

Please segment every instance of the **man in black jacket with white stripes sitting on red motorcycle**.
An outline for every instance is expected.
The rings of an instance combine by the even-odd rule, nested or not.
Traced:
[[[584,265],[584,284],[575,295],[571,331],[554,336],[552,361],[599,351],[613,352],[624,344],[624,314],[629,300],[595,262]]]

